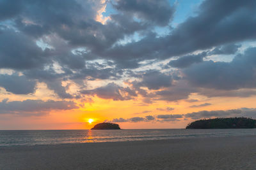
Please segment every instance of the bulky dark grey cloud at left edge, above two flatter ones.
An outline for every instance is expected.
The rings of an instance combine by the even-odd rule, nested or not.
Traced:
[[[0,28],[0,68],[30,69],[47,62],[47,50],[35,41],[12,29]]]

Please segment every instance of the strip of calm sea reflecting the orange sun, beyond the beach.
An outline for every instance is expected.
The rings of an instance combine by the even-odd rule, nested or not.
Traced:
[[[154,139],[200,138],[214,136],[256,135],[256,129],[132,129],[132,130],[52,130],[0,131],[0,146],[56,145],[61,143],[93,143],[143,141]]]

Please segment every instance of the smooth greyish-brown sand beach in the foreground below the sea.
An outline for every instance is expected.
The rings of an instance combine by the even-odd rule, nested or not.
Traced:
[[[256,136],[4,146],[0,169],[256,169]]]

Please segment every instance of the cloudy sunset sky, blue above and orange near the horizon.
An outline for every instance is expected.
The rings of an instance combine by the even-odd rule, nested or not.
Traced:
[[[0,129],[256,118],[255,13],[254,0],[0,0]]]

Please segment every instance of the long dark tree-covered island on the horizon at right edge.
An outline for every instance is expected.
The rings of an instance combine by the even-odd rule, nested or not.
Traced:
[[[256,128],[256,120],[245,117],[210,118],[196,120],[187,125],[186,129],[250,129]]]

